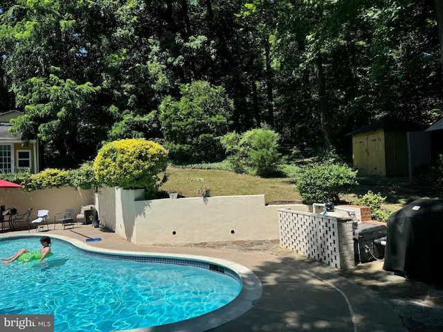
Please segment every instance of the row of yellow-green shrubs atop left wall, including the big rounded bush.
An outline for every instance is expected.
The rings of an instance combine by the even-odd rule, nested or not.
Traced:
[[[96,189],[100,185],[123,189],[143,188],[154,196],[168,163],[168,150],[156,142],[143,138],[115,140],[105,144],[95,160],[83,163],[78,169],[48,168],[38,174],[30,169],[17,173],[1,174],[4,180],[24,186],[24,190],[73,187],[82,190]]]

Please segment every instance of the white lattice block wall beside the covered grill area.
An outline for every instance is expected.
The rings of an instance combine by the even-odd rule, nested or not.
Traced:
[[[278,210],[280,246],[335,268],[354,266],[352,219]]]

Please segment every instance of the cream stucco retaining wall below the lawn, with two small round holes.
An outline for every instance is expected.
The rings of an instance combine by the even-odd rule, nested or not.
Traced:
[[[102,188],[100,223],[137,245],[278,239],[278,209],[264,195],[192,197],[145,201],[143,191]]]

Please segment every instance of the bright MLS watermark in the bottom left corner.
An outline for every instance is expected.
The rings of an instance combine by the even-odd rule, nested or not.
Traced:
[[[54,315],[0,315],[1,332],[54,332]]]

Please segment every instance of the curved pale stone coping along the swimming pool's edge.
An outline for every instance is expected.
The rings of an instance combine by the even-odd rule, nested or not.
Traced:
[[[0,237],[41,237],[40,234],[10,234]],[[219,259],[215,257],[200,256],[200,255],[183,255],[183,254],[170,254],[161,252],[138,252],[138,251],[125,251],[125,250],[111,250],[105,248],[96,248],[89,246],[87,243],[83,243],[78,239],[71,237],[65,237],[63,235],[51,234],[51,238],[67,241],[73,246],[76,246],[82,250],[89,252],[96,252],[99,254],[105,253],[109,255],[134,255],[134,256],[152,256],[152,257],[172,257],[178,259],[191,259],[198,261],[208,261],[210,263],[218,264],[230,268],[242,279],[242,290],[239,295],[228,304],[218,308],[215,311],[210,311],[204,315],[190,318],[189,320],[183,320],[171,324],[142,327],[138,329],[121,330],[115,332],[172,332],[172,331],[190,331],[190,332],[204,332],[210,329],[215,329],[218,326],[226,324],[231,320],[243,315],[249,311],[262,297],[262,282],[260,278],[253,273],[252,270],[236,263],[235,261],[229,261],[227,259]]]

